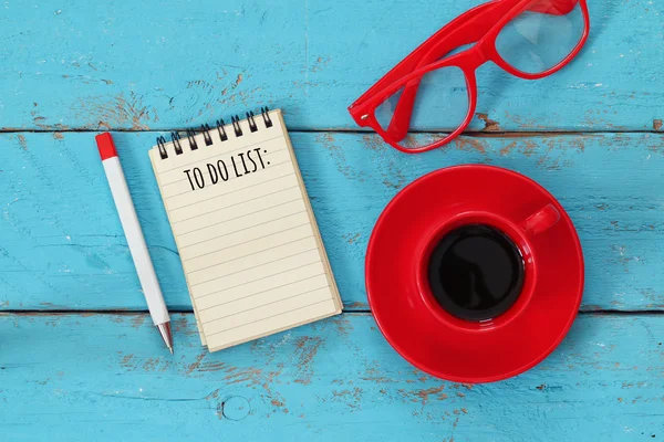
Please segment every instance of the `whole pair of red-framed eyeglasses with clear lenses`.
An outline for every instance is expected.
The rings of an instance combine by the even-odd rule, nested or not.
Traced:
[[[518,77],[542,78],[581,51],[589,31],[585,0],[489,1],[436,32],[349,112],[357,125],[373,128],[401,151],[435,149],[457,137],[473,119],[479,66],[492,61]],[[444,128],[445,134],[408,136],[409,130],[432,127]]]

